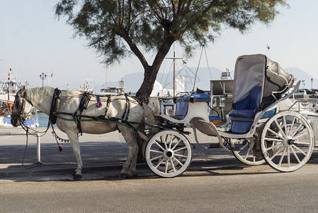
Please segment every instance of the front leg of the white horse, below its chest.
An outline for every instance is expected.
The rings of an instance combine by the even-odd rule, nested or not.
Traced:
[[[79,136],[76,131],[67,131],[67,136],[69,137],[69,141],[71,141],[77,163],[74,180],[81,180],[81,177],[83,176],[81,174],[81,170],[83,170],[83,163],[81,161],[81,149],[79,148]]]

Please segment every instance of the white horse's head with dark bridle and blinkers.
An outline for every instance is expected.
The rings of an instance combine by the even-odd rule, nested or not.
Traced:
[[[13,111],[11,114],[11,124],[14,127],[20,126],[21,121],[25,120],[25,116],[28,115],[32,105],[26,99],[26,89],[22,87],[16,93],[16,99],[14,100],[13,104]]]

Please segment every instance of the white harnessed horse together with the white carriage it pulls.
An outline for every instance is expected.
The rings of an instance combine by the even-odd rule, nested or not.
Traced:
[[[293,75],[265,55],[239,57],[235,65],[234,110],[229,112],[224,130],[210,122],[215,116],[208,114],[208,94],[177,97],[174,116],[169,116],[161,114],[158,99],[151,99],[147,106],[127,95],[99,96],[52,87],[21,89],[11,122],[18,126],[31,105],[50,115],[50,122],[67,133],[72,143],[77,161],[75,180],[81,178],[83,168],[79,133],[115,130],[123,134],[129,148],[122,177],[130,178],[135,172],[136,135],[144,140],[140,147],[152,172],[165,178],[181,175],[193,156],[185,126],[193,128],[197,143],[197,130],[216,137],[220,146],[243,163],[267,162],[278,171],[291,172],[307,163],[314,147],[313,126],[306,116],[290,110],[291,104],[284,104],[299,87],[300,82],[290,91],[293,82]],[[140,124],[146,125],[148,131],[142,131]]]

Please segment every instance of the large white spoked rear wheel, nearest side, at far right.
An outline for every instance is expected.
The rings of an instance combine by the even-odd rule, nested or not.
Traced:
[[[292,172],[305,165],[313,147],[310,124],[295,111],[282,111],[272,116],[261,133],[264,159],[281,172]]]

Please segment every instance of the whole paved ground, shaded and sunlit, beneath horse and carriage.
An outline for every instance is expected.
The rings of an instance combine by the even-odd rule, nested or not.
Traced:
[[[1,129],[0,132],[5,130]],[[14,129],[14,131],[21,131]],[[64,136],[59,133],[60,136]],[[208,145],[215,141],[199,135]],[[189,136],[194,141],[193,135]],[[0,212],[317,212],[318,157],[304,168],[278,173],[268,165],[239,163],[222,149],[194,149],[191,167],[180,177],[153,175],[144,164],[136,177],[117,177],[127,156],[118,132],[84,135],[84,180],[72,180],[75,159],[69,143],[58,152],[50,135],[41,138],[43,165],[36,160],[36,139],[0,137]]]

